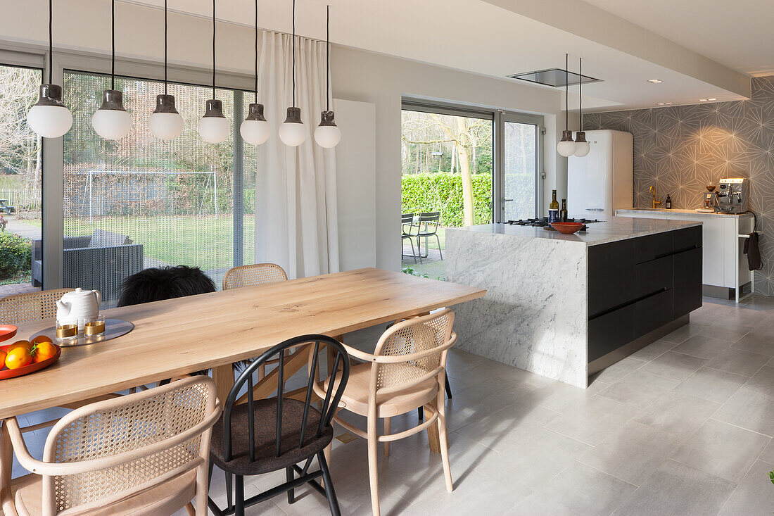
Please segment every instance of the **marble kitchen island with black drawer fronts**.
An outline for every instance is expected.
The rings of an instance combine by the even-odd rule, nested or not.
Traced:
[[[447,229],[446,249],[447,280],[487,289],[455,307],[457,346],[577,387],[701,305],[701,222],[477,225]]]

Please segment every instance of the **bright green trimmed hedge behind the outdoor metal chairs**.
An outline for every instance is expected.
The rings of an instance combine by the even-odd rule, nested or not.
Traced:
[[[491,176],[473,174],[473,223],[491,222]],[[450,172],[404,174],[401,179],[403,213],[440,212],[440,224],[463,225],[462,176]]]

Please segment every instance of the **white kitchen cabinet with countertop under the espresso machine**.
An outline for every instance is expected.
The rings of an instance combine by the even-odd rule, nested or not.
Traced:
[[[753,231],[752,214],[726,215],[700,213],[694,210],[616,210],[616,216],[667,218],[702,222],[702,283],[705,293],[737,301],[752,292],[754,275],[747,267],[743,252],[745,236]]]

